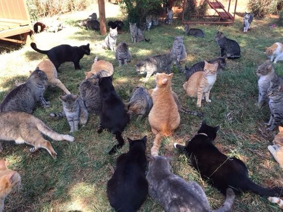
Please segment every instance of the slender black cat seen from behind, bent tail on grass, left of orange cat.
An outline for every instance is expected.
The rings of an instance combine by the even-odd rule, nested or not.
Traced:
[[[124,109],[122,99],[115,92],[112,76],[100,78],[98,85],[102,108],[97,132],[101,133],[103,129],[107,129],[116,136],[118,144],[114,145],[109,152],[109,154],[113,154],[116,152],[116,148],[121,148],[124,145],[121,133],[129,123],[130,115]]]

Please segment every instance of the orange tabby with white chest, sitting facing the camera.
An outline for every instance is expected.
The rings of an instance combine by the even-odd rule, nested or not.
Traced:
[[[194,73],[187,82],[183,84],[183,87],[189,97],[197,97],[197,105],[201,107],[201,100],[211,102],[209,99],[209,93],[216,81],[216,71],[218,63],[210,64],[204,61],[203,72]]]

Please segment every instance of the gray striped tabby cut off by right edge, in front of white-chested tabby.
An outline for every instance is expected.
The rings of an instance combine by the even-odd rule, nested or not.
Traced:
[[[270,87],[267,92],[269,98],[269,109],[271,112],[267,126],[269,131],[278,127],[283,122],[283,79],[277,77],[270,81]]]

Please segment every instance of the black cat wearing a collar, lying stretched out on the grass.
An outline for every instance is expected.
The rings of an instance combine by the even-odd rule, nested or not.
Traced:
[[[220,190],[224,195],[228,187],[235,193],[252,191],[264,197],[282,197],[283,188],[267,189],[255,184],[247,172],[245,164],[236,157],[227,157],[214,145],[219,126],[210,127],[203,121],[198,134],[188,140],[186,146],[174,144],[174,147],[182,149],[202,178]]]

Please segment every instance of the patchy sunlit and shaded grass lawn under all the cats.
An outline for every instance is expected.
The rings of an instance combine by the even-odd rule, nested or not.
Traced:
[[[97,7],[97,6],[96,6]],[[107,19],[114,20],[121,15],[118,6],[106,5]],[[96,9],[97,10],[97,9]],[[196,26],[205,32],[205,38],[192,38],[184,34],[179,21],[173,25],[161,25],[145,32],[150,43],[131,43],[130,34],[119,34],[119,42],[130,44],[133,60],[128,66],[118,67],[115,55],[110,50],[101,48],[105,36],[98,32],[87,31],[77,26],[79,20],[85,19],[93,10],[67,14],[63,16],[66,28],[55,33],[39,33],[34,36],[34,42],[40,49],[49,49],[60,44],[82,45],[90,43],[91,55],[84,56],[80,62],[82,69],[75,70],[73,63],[64,63],[59,68],[58,77],[68,90],[78,93],[78,84],[84,79],[83,72],[89,71],[96,55],[114,65],[114,86],[117,93],[125,101],[131,97],[136,85],[143,85],[147,89],[155,86],[154,77],[148,83],[141,82],[136,73],[135,63],[143,58],[168,52],[175,36],[185,36],[185,46],[188,53],[185,64],[192,65],[203,59],[212,59],[219,56],[219,48],[214,42],[214,35],[218,26]],[[98,14],[98,13],[97,13]],[[211,90],[211,103],[202,102],[201,109],[196,106],[196,99],[185,96],[183,83],[185,75],[173,68],[174,76],[172,89],[178,94],[181,103],[190,110],[205,113],[207,123],[213,126],[220,125],[215,145],[225,154],[240,158],[249,169],[251,179],[266,187],[283,187],[283,172],[269,153],[267,146],[271,144],[277,130],[269,133],[263,122],[269,120],[269,108],[266,105],[257,109],[255,102],[258,97],[257,77],[255,71],[258,65],[266,59],[263,54],[264,46],[275,42],[283,42],[283,29],[270,29],[269,25],[277,20],[272,18],[254,20],[252,30],[242,32],[242,17],[237,17],[233,26],[221,26],[220,30],[241,46],[242,57],[237,60],[228,60],[226,69],[217,76],[216,83]],[[0,100],[13,89],[14,81],[23,81],[29,70],[47,58],[45,55],[24,46],[20,50],[0,55]],[[185,65],[183,64],[183,66]],[[283,76],[283,62],[275,64],[277,74]],[[51,129],[60,133],[68,133],[69,126],[66,119],[53,119],[50,112],[61,111],[61,102],[58,97],[62,91],[48,88],[45,98],[50,101],[51,107],[38,107],[33,115],[43,120]],[[130,122],[123,137],[132,139],[148,136],[147,154],[154,139],[148,119],[141,122]],[[170,138],[164,139],[163,144],[169,142],[185,143],[198,130],[201,118],[181,114],[180,127]],[[66,141],[51,144],[58,153],[57,160],[52,159],[48,152],[40,149],[36,153],[29,153],[27,145],[15,145],[13,142],[2,142],[4,158],[8,167],[16,170],[22,176],[22,189],[11,193],[6,198],[7,211],[112,211],[106,193],[107,181],[111,178],[110,167],[115,167],[116,158],[128,151],[126,144],[119,153],[109,156],[107,153],[116,143],[115,137],[109,132],[97,134],[99,118],[92,115],[86,126],[74,134],[75,142]],[[48,138],[49,139],[49,138]],[[50,139],[49,139],[50,140]],[[161,155],[172,156],[172,171],[187,181],[196,181],[204,189],[210,205],[218,208],[224,203],[224,196],[201,179],[184,155],[161,148]],[[162,211],[162,207],[150,197],[139,211]],[[270,203],[253,193],[243,193],[236,197],[235,211],[280,211],[276,204]]]

